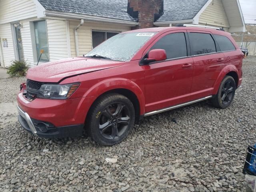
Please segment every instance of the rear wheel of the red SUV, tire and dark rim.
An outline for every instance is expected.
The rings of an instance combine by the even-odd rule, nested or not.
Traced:
[[[236,82],[231,76],[225,76],[218,93],[212,97],[213,106],[225,109],[232,103],[236,91]]]

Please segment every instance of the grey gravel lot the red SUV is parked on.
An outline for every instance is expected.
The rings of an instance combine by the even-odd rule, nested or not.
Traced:
[[[112,147],[87,136],[28,134],[12,104],[24,78],[0,79],[0,191],[245,191],[246,147],[256,141],[256,58],[245,59],[243,71],[228,109],[206,101],[150,116]]]

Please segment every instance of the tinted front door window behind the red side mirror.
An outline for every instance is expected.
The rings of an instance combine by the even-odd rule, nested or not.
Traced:
[[[164,36],[154,46],[152,49],[164,49],[166,50],[167,59],[186,57],[187,45],[184,33],[172,33]]]

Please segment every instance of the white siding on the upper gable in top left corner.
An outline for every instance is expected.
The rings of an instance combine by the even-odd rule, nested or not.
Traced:
[[[33,0],[1,0],[0,24],[24,20],[36,16],[36,4]]]

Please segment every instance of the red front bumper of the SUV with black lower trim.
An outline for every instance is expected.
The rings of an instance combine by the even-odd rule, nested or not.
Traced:
[[[83,134],[86,115],[94,97],[65,100],[36,98],[28,101],[22,91],[17,96],[17,108],[18,120],[25,130],[42,138]]]

